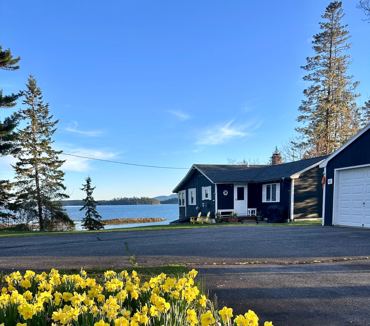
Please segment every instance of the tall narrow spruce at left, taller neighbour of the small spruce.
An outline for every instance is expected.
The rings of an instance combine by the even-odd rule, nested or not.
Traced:
[[[53,202],[68,198],[63,184],[64,172],[60,169],[65,160],[58,159],[62,151],[51,148],[58,120],[49,115],[49,103],[44,104],[41,89],[33,75],[28,77],[27,107],[20,110],[22,119],[28,125],[19,130],[21,150],[14,154],[18,162],[13,166],[16,172],[17,203],[20,210],[27,210],[37,218],[40,231],[53,230],[58,222],[67,220],[65,210]]]

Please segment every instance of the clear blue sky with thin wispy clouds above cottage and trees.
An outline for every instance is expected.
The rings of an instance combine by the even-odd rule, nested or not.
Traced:
[[[34,74],[65,153],[185,168],[267,161],[297,126],[309,85],[300,66],[329,2],[17,1],[0,39],[21,69],[0,71],[0,88],[16,92]],[[343,2],[342,21],[364,103],[370,24],[356,2]],[[63,158],[72,199],[87,175],[95,198],[110,199],[169,195],[187,172]],[[11,162],[0,158],[0,179],[12,177]]]

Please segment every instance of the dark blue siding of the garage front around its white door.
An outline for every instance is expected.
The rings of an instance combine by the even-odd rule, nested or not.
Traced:
[[[333,179],[327,184],[325,194],[324,225],[333,224],[334,169],[370,164],[370,129],[354,140],[350,145],[333,157],[326,165],[326,180]]]

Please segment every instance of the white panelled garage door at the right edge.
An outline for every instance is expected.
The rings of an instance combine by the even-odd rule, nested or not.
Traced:
[[[337,181],[334,224],[370,228],[370,166],[338,170]]]

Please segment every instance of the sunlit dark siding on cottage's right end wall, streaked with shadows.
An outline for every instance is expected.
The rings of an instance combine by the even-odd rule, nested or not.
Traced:
[[[324,169],[316,166],[294,180],[294,219],[322,217]]]

